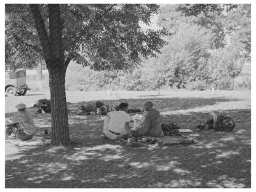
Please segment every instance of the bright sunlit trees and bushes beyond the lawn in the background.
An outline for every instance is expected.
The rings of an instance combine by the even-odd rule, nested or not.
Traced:
[[[78,14],[80,9],[76,10],[79,7],[76,6],[73,8],[74,12]],[[114,7],[111,8],[108,5],[104,7],[104,10],[110,8],[114,10]],[[124,15],[128,14],[129,7],[127,6],[127,12]],[[103,9],[103,7],[100,9]],[[97,7],[97,11],[104,14],[100,9]],[[150,10],[151,14],[157,13],[155,7],[151,7]],[[72,29],[69,35],[81,30],[79,28],[80,25],[74,23],[74,18],[70,15],[71,12],[67,11],[65,13],[65,21],[67,23],[65,25],[70,26],[68,29]],[[117,13],[115,12],[115,14]],[[111,21],[111,17],[113,17],[112,11],[110,13],[107,12],[106,16],[110,17],[108,21]],[[84,16],[81,15],[78,18],[82,17]],[[134,17],[135,15],[132,18]],[[149,23],[148,17],[147,19],[143,19],[143,15],[140,15],[140,17],[145,23]],[[111,33],[108,31],[105,38],[118,35],[122,42],[130,39],[129,50],[134,50],[133,45],[135,43],[137,43],[136,47],[139,47],[137,50],[142,50],[143,46],[140,47],[140,45],[143,45],[143,38],[134,38],[132,33],[124,30],[125,28],[130,29],[132,26],[127,21],[122,21],[121,18],[116,24],[112,21],[110,22],[111,26],[108,27],[110,31],[114,31]],[[163,29],[164,33],[163,31],[158,31],[156,34],[164,34],[163,39],[168,44],[162,47],[161,53],[157,53],[159,50],[154,54],[153,52],[150,53],[151,56],[158,56],[158,58],[143,59],[143,53],[149,54],[146,50],[135,55],[131,51],[129,53],[123,52],[122,58],[118,55],[114,57],[113,50],[118,50],[119,53],[119,48],[115,46],[117,42],[109,41],[110,39],[97,39],[94,41],[98,47],[98,57],[96,58],[101,59],[95,60],[94,65],[88,65],[94,70],[99,67],[103,70],[109,69],[113,71],[97,72],[87,67],[81,68],[79,65],[72,64],[67,70],[66,88],[67,90],[108,90],[114,89],[117,80],[119,90],[201,90],[210,87],[215,87],[215,89],[250,89],[250,18],[250,4],[167,4],[161,7],[158,17],[158,26]],[[100,18],[100,20],[100,26],[105,28],[107,26],[106,19]],[[18,20],[17,23],[21,25]],[[116,30],[114,25],[123,30]],[[97,29],[98,27],[97,24]],[[142,31],[140,30],[140,33]],[[79,35],[79,32],[77,33]],[[146,33],[149,33],[149,31]],[[127,37],[129,38],[127,39]],[[108,42],[110,47],[101,46],[102,40]],[[164,45],[164,41],[161,41],[161,45]],[[145,40],[145,42],[150,41]],[[70,40],[67,43],[71,44],[72,42]],[[6,46],[6,49],[9,49],[9,47]],[[89,50],[93,49],[95,47],[89,48]],[[124,56],[127,54],[130,58],[136,57],[138,60],[142,60],[142,65],[137,68],[130,68],[130,63],[126,63],[123,60],[124,57],[127,58]],[[18,53],[15,55],[15,57],[19,57]],[[30,57],[32,55],[28,54]],[[6,57],[6,59],[14,58],[13,60],[15,60],[15,57]],[[37,57],[37,55],[33,55],[33,58],[37,59]],[[79,58],[81,57],[76,57],[74,60],[86,66],[87,62],[79,60]],[[111,63],[114,63],[111,65],[112,67],[105,63],[105,58],[110,58]],[[33,60],[30,59],[30,61],[32,62]],[[122,71],[124,69],[128,70]],[[116,79],[118,71],[119,77]]]

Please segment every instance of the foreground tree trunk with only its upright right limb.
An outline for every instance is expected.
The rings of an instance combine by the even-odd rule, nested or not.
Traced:
[[[52,62],[48,65],[50,103],[52,113],[52,144],[67,145],[70,142],[68,110],[66,108],[65,74],[60,6],[49,4],[50,44]]]

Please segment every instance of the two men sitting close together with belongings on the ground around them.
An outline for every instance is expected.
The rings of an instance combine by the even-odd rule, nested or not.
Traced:
[[[145,102],[143,106],[145,111],[132,117],[128,113],[128,103],[121,103],[118,106],[119,111],[111,111],[107,114],[103,123],[102,137],[122,141],[130,146],[145,146],[143,143],[154,143],[156,138],[164,136],[176,136],[177,144],[193,143],[180,134],[180,127],[177,124],[163,123],[159,111],[153,106],[152,102]]]

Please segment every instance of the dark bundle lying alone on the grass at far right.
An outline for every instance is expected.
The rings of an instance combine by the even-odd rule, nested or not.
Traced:
[[[213,118],[208,119],[206,123],[199,124],[196,126],[199,130],[209,130],[214,129],[218,132],[231,132],[236,124],[234,120],[229,116],[216,115],[215,113],[210,113]]]

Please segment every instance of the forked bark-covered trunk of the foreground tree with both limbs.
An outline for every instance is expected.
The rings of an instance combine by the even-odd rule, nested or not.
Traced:
[[[49,4],[48,7],[50,37],[47,36],[38,5],[30,4],[49,71],[52,144],[67,145],[70,142],[70,135],[66,107],[65,74],[69,62],[65,62],[63,54],[60,6]]]

